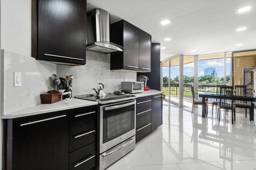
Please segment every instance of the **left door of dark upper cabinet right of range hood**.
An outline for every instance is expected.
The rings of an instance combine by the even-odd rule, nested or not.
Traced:
[[[139,69],[139,29],[124,21],[124,69]]]

